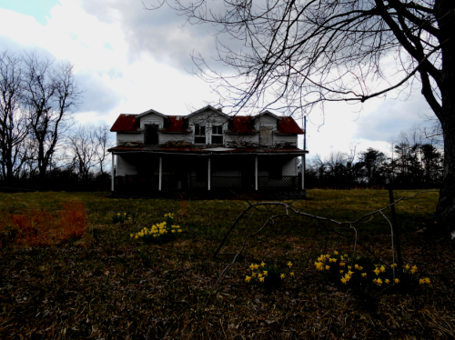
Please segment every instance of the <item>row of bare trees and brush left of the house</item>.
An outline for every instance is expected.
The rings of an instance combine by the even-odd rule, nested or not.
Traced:
[[[76,125],[73,65],[0,53],[0,186],[108,190],[107,125]]]

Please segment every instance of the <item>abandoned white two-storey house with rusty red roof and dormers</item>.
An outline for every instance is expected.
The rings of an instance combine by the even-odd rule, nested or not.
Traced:
[[[298,174],[298,135],[292,117],[265,111],[229,116],[210,105],[186,116],[148,110],[119,115],[112,153],[112,191],[154,195],[160,191],[238,192],[275,190],[304,196]]]

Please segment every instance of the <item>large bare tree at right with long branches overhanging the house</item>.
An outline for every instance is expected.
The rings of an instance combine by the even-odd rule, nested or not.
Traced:
[[[215,81],[235,112],[270,106],[304,113],[323,102],[363,103],[391,90],[420,87],[444,136],[439,223],[432,228],[455,229],[453,0],[168,3],[188,22],[217,25],[235,41],[232,48],[217,41],[218,58],[234,74],[224,76],[194,57],[200,75]],[[393,57],[398,72],[390,76],[384,65]]]

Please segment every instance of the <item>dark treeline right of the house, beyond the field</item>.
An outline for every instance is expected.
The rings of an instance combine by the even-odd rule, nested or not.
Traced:
[[[440,187],[443,176],[443,145],[440,134],[415,126],[391,140],[390,153],[369,148],[349,154],[332,151],[324,160],[309,158],[306,166],[308,188],[420,189]]]

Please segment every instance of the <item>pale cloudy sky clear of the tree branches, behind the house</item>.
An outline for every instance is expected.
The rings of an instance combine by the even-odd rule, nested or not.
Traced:
[[[112,125],[119,114],[150,108],[187,115],[192,109],[216,105],[209,85],[188,73],[193,51],[214,55],[212,28],[182,25],[184,18],[169,8],[149,11],[144,4],[0,0],[0,51],[37,51],[75,65],[77,82],[85,92],[76,111],[81,123]],[[307,126],[310,155],[349,152],[349,145],[357,145],[357,151],[372,146],[387,152],[390,138],[425,124],[421,116],[431,115],[418,91],[404,99],[389,96],[363,107],[326,105],[324,115],[313,112]]]

